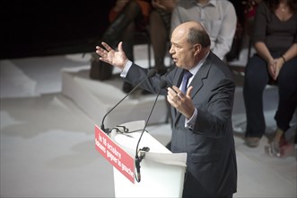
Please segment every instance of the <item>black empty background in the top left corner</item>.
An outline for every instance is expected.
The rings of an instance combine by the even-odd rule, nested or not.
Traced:
[[[2,0],[0,58],[94,51],[113,0]]]

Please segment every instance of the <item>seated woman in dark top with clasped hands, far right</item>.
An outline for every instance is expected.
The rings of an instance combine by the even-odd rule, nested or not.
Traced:
[[[263,0],[258,4],[252,42],[256,54],[245,68],[243,96],[247,114],[246,144],[258,147],[266,123],[263,92],[274,81],[278,85],[275,113],[273,155],[279,156],[284,132],[297,104],[297,2],[296,0]]]

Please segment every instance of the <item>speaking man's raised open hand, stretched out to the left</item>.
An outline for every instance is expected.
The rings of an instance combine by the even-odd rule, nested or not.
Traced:
[[[105,42],[102,42],[101,44],[105,49],[100,46],[96,46],[96,53],[100,56],[100,60],[123,69],[128,61],[128,58],[123,50],[123,42],[118,43],[118,51],[110,48],[110,46]]]

